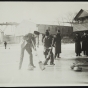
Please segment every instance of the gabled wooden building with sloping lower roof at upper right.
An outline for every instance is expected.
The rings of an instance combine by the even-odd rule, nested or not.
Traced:
[[[88,10],[81,9],[74,18],[73,32],[88,32]]]

